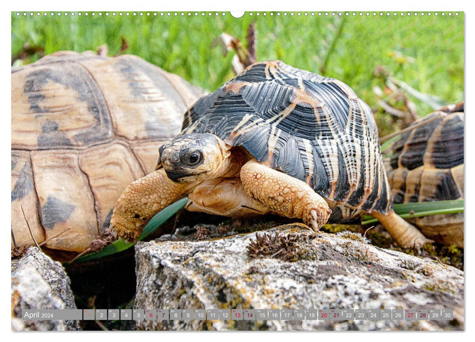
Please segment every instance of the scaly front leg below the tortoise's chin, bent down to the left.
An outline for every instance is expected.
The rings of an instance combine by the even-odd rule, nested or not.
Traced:
[[[135,241],[147,222],[185,192],[187,185],[171,181],[163,169],[147,174],[122,192],[111,218],[111,229],[127,241]]]

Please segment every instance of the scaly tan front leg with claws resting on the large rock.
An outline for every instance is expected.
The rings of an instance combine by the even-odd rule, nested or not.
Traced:
[[[327,202],[307,183],[255,160],[241,168],[241,182],[252,199],[279,215],[303,219],[316,232],[332,213]]]

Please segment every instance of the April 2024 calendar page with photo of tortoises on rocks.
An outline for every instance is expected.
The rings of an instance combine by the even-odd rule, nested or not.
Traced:
[[[12,11],[12,331],[463,331],[464,70],[463,11]]]

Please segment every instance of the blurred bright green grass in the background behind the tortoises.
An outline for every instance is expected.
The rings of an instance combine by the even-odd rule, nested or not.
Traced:
[[[23,14],[23,13],[22,13]],[[257,29],[258,60],[280,59],[295,67],[335,77],[350,85],[370,106],[373,87],[381,85],[372,70],[383,64],[413,88],[447,102],[463,98],[463,13],[459,16],[332,17],[263,16],[240,19],[222,16],[188,17],[17,17],[12,13],[12,58],[24,43],[40,45],[49,54],[59,50],[96,50],[107,43],[117,53],[121,36],[127,53],[138,55],[194,85],[214,90],[232,74],[232,53],[223,57],[213,41],[222,32],[244,40],[249,23]],[[194,14],[194,13],[193,13]],[[394,52],[398,52],[397,57]],[[412,62],[408,62],[413,59]],[[31,61],[37,59],[34,56]],[[420,114],[430,107],[415,101]]]

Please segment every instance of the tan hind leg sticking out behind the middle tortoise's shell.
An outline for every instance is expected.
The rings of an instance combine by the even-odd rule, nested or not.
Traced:
[[[420,248],[424,244],[432,242],[392,210],[388,214],[373,212],[371,215],[381,222],[389,234],[403,248]]]

